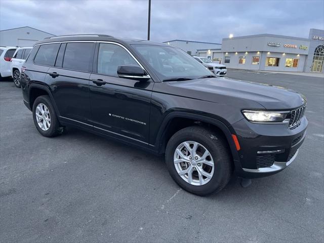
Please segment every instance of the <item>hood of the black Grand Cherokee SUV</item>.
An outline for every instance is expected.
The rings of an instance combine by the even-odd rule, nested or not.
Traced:
[[[294,90],[226,77],[170,82],[170,85],[186,89],[184,94],[190,94],[192,98],[204,97],[207,101],[231,103],[234,106],[257,102],[266,109],[278,110],[296,108],[306,102],[306,98]]]

